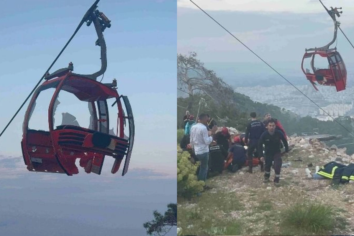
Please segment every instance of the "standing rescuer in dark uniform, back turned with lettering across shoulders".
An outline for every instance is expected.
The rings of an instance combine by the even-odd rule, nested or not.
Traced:
[[[246,134],[245,134],[245,143],[248,146],[247,148],[247,160],[248,160],[248,167],[249,169],[246,172],[252,174],[252,159],[253,159],[253,152],[256,150],[255,157],[260,158],[261,154],[258,153],[258,141],[261,135],[264,133],[265,126],[264,123],[257,120],[257,114],[255,112],[251,112],[251,122],[247,125]],[[264,171],[263,162],[260,162],[261,165],[261,172]]]

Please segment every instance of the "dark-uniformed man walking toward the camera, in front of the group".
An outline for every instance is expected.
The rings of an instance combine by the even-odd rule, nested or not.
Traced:
[[[261,157],[261,161],[264,161],[264,183],[269,181],[270,177],[270,167],[274,161],[274,184],[279,186],[280,169],[282,165],[281,152],[280,152],[280,141],[284,143],[285,152],[289,151],[289,146],[284,135],[275,128],[275,120],[270,119],[267,122],[267,131],[265,131],[258,143],[259,153],[263,154],[263,144],[264,144],[264,155]]]

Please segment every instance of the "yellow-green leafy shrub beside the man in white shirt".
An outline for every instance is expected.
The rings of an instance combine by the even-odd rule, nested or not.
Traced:
[[[198,165],[193,165],[188,160],[190,154],[181,152],[177,148],[177,196],[190,199],[203,190],[204,181],[198,181],[196,170]]]

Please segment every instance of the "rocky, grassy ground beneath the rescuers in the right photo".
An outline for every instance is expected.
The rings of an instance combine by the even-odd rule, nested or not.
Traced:
[[[246,168],[207,180],[211,186],[200,197],[178,201],[180,235],[354,235],[354,184],[331,185],[329,179],[313,179],[316,166],[330,161],[353,163],[354,155],[346,149],[328,147],[319,140],[290,138],[294,148],[283,156],[280,187],[264,184],[263,174],[255,167],[253,174]],[[289,164],[290,163],[290,164]],[[311,171],[310,175],[306,169]],[[270,178],[274,178],[274,171]],[[286,211],[296,204],[319,203],[333,207],[332,226],[316,233],[301,231],[283,224]],[[303,214],[299,214],[303,217]],[[321,217],[326,214],[315,214]],[[321,220],[320,220],[321,221]]]

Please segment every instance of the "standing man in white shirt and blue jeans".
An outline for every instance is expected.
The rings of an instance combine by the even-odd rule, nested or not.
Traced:
[[[205,182],[208,173],[209,144],[213,142],[211,135],[215,134],[217,126],[214,126],[211,131],[208,132],[206,128],[208,120],[207,114],[200,114],[199,120],[200,123],[197,123],[190,129],[190,145],[194,149],[198,161],[200,161],[198,180]]]

